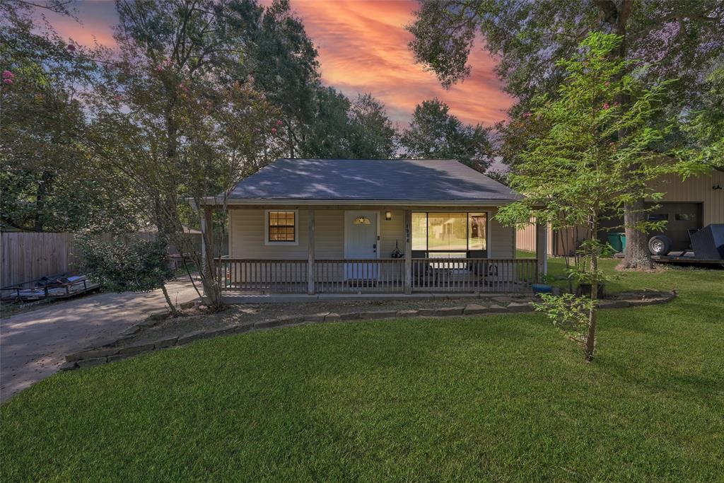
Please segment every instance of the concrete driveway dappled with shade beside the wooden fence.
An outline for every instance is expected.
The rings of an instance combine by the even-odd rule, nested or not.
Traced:
[[[167,290],[174,303],[198,297],[188,280]],[[54,374],[67,354],[105,343],[166,307],[161,290],[99,293],[0,320],[0,401]]]

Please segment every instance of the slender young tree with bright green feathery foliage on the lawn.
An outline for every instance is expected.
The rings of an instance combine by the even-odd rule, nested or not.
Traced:
[[[548,129],[529,140],[510,175],[511,187],[526,198],[497,214],[508,225],[535,217],[549,222],[552,229],[586,228],[580,248],[584,263],[570,271],[581,285],[590,285],[590,295],[545,295],[536,307],[573,333],[583,345],[586,361],[594,356],[597,298],[605,280],[598,264],[605,250],[598,239],[601,222],[620,217],[623,206],[633,200],[659,199],[662,193],[654,192],[647,182],[678,169],[673,157],[651,149],[665,135],[664,130],[649,127],[649,119],[661,109],[669,82],[644,85],[628,61],[610,56],[620,41],[615,34],[591,33],[578,54],[558,62],[566,75],[557,95],[536,98],[527,115]],[[622,75],[625,71],[632,73]],[[618,104],[622,95],[631,98],[628,109]],[[636,230],[660,229],[662,222],[642,218]]]

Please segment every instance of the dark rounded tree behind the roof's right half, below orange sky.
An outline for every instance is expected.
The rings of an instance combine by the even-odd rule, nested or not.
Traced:
[[[480,172],[490,165],[489,130],[466,125],[450,114],[450,106],[434,98],[418,104],[400,136],[405,155],[413,158],[457,159]]]

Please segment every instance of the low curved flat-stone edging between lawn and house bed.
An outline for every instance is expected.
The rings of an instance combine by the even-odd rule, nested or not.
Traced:
[[[624,294],[618,294],[624,295]],[[673,301],[676,298],[676,292],[670,293],[665,292],[653,292],[644,291],[639,293],[627,293],[631,295],[631,299],[602,299],[599,301],[599,308],[628,308],[637,306],[648,306],[655,305],[658,303],[667,303]],[[643,295],[643,298],[636,298]],[[649,298],[647,298],[649,297]],[[409,317],[445,317],[445,316],[472,316],[472,315],[486,315],[486,314],[515,314],[523,312],[534,311],[532,302],[511,302],[508,306],[500,306],[492,304],[491,306],[481,306],[477,303],[468,303],[466,306],[455,306],[455,307],[439,307],[439,308],[418,308],[416,310],[399,310],[399,311],[364,311],[364,312],[348,312],[345,314],[335,314],[331,312],[323,314],[311,314],[304,316],[284,316],[278,319],[267,319],[258,322],[247,322],[245,324],[235,325],[233,327],[226,327],[224,329],[216,330],[199,330],[196,332],[190,332],[186,335],[180,335],[175,337],[167,337],[165,339],[156,340],[153,343],[146,343],[140,345],[130,345],[128,347],[109,347],[122,343],[132,335],[140,332],[146,327],[153,327],[162,318],[167,316],[167,313],[151,314],[146,320],[139,324],[130,327],[123,335],[117,340],[107,343],[103,347],[83,350],[77,353],[69,354],[65,357],[65,363],[60,366],[61,371],[67,371],[71,369],[79,369],[83,367],[98,366],[100,364],[106,364],[120,359],[129,358],[132,356],[138,356],[138,354],[151,352],[152,350],[165,349],[169,347],[175,347],[177,345],[185,345],[194,340],[209,339],[211,337],[219,337],[222,335],[233,335],[243,334],[245,332],[251,332],[253,330],[264,330],[274,329],[277,327],[287,327],[291,325],[299,324],[312,324],[319,322],[344,322],[350,320],[370,320],[370,319],[400,319]]]

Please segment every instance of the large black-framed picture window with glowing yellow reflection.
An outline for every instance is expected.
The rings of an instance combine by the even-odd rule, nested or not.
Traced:
[[[487,213],[412,214],[412,249],[431,258],[458,258],[487,250]]]

